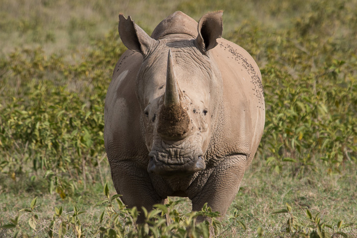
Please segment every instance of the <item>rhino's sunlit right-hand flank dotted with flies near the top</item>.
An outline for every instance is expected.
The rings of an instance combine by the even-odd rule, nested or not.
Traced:
[[[261,73],[253,58],[242,47],[218,39],[211,54],[223,80],[223,109],[213,137],[218,155],[243,153],[251,163],[262,138],[265,102]]]

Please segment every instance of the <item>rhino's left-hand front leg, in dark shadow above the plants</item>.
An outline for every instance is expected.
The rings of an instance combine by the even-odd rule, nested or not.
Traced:
[[[144,222],[141,207],[151,210],[152,205],[164,202],[152,187],[147,171],[132,161],[121,161],[110,167],[116,192],[122,195],[120,198],[125,205],[138,208],[140,215],[137,222]]]

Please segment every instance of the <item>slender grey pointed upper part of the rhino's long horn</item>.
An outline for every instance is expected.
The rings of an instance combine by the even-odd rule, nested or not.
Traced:
[[[180,104],[179,86],[177,85],[176,74],[173,69],[171,49],[169,49],[169,55],[167,58],[166,89],[164,103],[165,106]]]

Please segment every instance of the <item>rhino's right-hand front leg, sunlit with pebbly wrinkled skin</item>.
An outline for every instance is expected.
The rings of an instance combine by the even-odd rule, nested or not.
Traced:
[[[207,202],[213,211],[219,211],[222,220],[228,207],[238,193],[242,181],[246,155],[232,155],[225,157],[210,174],[201,193],[191,198],[192,209],[200,210]],[[198,218],[198,221],[209,220]]]

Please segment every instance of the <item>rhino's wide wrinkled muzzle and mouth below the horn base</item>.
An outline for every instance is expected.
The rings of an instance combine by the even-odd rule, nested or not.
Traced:
[[[162,176],[189,175],[206,169],[201,149],[167,145],[163,141],[161,145],[161,147],[154,146],[149,153],[150,161],[147,166],[149,173]]]

